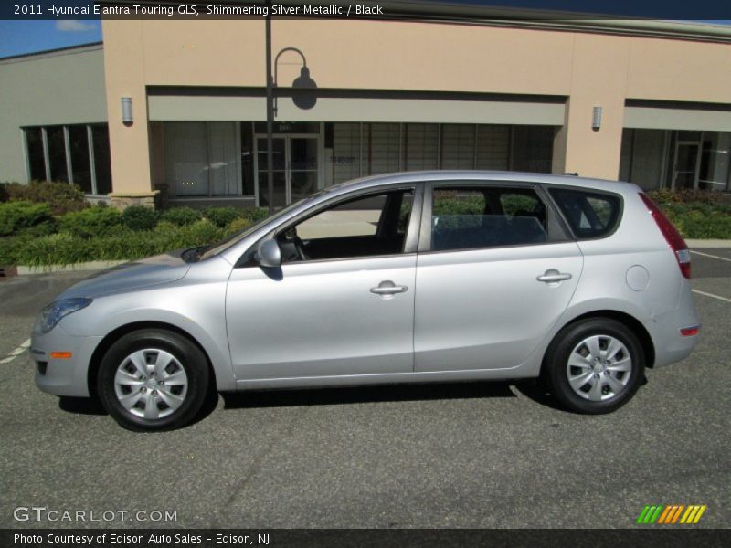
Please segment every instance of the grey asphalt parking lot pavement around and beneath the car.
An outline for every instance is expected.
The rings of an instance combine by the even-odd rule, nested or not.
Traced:
[[[38,391],[22,350],[90,273],[0,282],[0,360],[18,353],[0,363],[0,528],[625,528],[657,503],[704,504],[696,527],[726,528],[731,249],[698,252],[696,351],[607,416],[527,384],[413,385],[221,396],[190,427],[135,434]]]

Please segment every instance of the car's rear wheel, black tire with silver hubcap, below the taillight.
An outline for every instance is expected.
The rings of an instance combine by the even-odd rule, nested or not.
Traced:
[[[594,339],[594,337],[599,337],[599,339]],[[619,341],[624,348],[616,354],[617,358],[609,362],[603,361],[597,364],[596,360],[592,359],[593,354],[590,352],[588,344],[578,347],[585,341],[597,341],[601,351],[602,345],[608,347],[612,339]],[[569,367],[569,358],[572,358],[572,364],[584,364],[580,361],[579,356],[572,357],[575,350],[578,354],[587,353],[587,356],[583,356],[587,364],[597,364],[597,368],[603,367],[604,370],[598,372],[592,368],[593,366],[588,365],[582,365],[582,367],[587,367],[586,369]],[[625,356],[625,352],[629,355]],[[630,358],[629,364],[624,361],[626,357]],[[629,370],[618,371],[617,368],[620,364]],[[619,409],[635,395],[644,379],[645,354],[635,334],[620,321],[609,318],[589,318],[569,324],[556,334],[556,338],[551,342],[546,353],[544,367],[542,376],[561,405],[577,413],[601,415]],[[569,376],[574,380],[575,385],[580,386],[572,387]],[[611,378],[607,378],[608,376]],[[585,377],[587,377],[587,381],[581,385]],[[612,386],[619,386],[618,383],[624,383],[624,387],[617,389],[615,394]],[[579,392],[583,395],[579,395]],[[598,400],[598,397],[601,399]]]

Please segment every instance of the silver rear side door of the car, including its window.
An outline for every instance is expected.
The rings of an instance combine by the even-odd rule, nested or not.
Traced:
[[[415,371],[512,368],[566,310],[583,258],[534,184],[433,183],[417,267]]]

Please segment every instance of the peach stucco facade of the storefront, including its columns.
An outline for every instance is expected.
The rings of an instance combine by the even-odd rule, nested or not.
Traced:
[[[104,21],[115,191],[150,188],[147,129],[112,116],[132,94],[146,108],[144,85],[262,88],[264,22]],[[615,179],[624,101],[728,102],[731,46],[659,37],[567,30],[415,22],[275,20],[273,47],[298,47],[321,88],[545,94],[567,98],[556,139],[556,172]],[[301,64],[285,54],[281,86]],[[603,108],[599,131],[592,108]],[[116,120],[115,120],[116,118]],[[731,129],[731,128],[729,128]],[[139,158],[139,163],[118,161]]]

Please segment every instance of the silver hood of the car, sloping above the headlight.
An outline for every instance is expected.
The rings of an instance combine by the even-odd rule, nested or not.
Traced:
[[[181,258],[181,251],[143,258],[92,274],[55,300],[74,297],[101,297],[110,293],[135,290],[147,286],[169,283],[187,274],[190,264]]]

